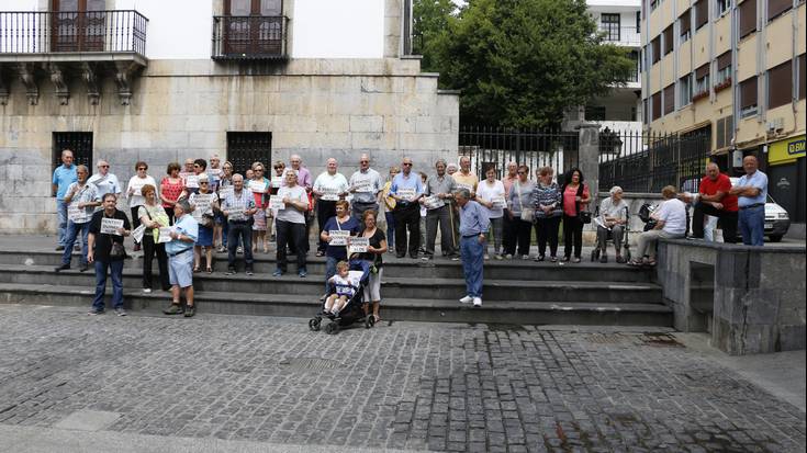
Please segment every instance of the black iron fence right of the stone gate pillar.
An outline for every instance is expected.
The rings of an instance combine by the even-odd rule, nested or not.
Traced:
[[[601,131],[599,190],[657,193],[665,185],[696,192],[710,158],[708,132],[648,135]]]

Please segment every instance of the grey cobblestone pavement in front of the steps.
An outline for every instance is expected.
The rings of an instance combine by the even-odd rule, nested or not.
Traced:
[[[805,415],[674,335],[0,305],[0,423],[437,451],[804,451]],[[111,412],[111,414],[110,414]]]

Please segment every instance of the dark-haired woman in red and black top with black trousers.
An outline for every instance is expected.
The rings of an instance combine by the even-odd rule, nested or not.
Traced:
[[[567,180],[561,189],[563,194],[563,261],[569,261],[574,248],[572,262],[580,262],[583,252],[583,222],[580,212],[585,211],[591,194],[589,185],[583,182],[583,172],[572,168],[567,173]]]

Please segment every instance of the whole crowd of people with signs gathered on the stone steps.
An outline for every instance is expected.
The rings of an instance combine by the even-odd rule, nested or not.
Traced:
[[[254,162],[239,174],[234,173],[231,162],[222,163],[213,156],[210,162],[188,159],[183,166],[169,163],[159,183],[148,173],[148,165],[138,161],[135,175],[124,188],[105,160],[98,162],[92,177],[88,168],[72,163],[70,150],[61,154],[61,160],[53,175],[59,222],[57,250],[64,253],[56,271],[70,269],[80,234],[79,271],[90,264],[96,268],[91,314],[104,310],[109,273],[114,287],[112,305],[119,315],[125,315],[122,263],[126,236],[133,236],[134,251],[143,251],[143,292],[153,291],[156,258],[159,286],[171,292],[165,313],[193,316],[193,274],[214,272],[214,250],[227,252],[227,275],[238,272],[239,261],[246,275],[253,275],[255,253],[268,253],[273,242],[277,267],[272,275],[287,273],[289,256],[294,256],[298,276],[306,278],[310,229],[316,219],[315,254],[325,257],[326,293],[322,301],[338,307],[338,298],[328,297],[328,285],[339,280],[345,263],[361,262],[362,269],[370,270],[365,301],[372,310],[369,316],[378,321],[383,256],[388,252],[400,259],[408,254],[411,259],[431,260],[439,231],[442,257],[462,261],[467,295],[460,302],[481,306],[485,260],[578,263],[583,227],[592,222],[594,195],[579,168],[556,177],[551,167],[541,167],[535,169],[533,179],[529,167],[509,162],[502,179],[497,168],[489,167],[485,179],[479,180],[467,156],[458,166],[437,160],[431,175],[414,172],[412,159],[404,158],[400,168],[390,168],[383,178],[365,154],[349,178],[339,172],[333,158],[313,178],[296,155],[291,156],[289,166],[276,161],[270,175],[262,162]],[[612,240],[617,262],[653,265],[659,238],[685,236],[687,203],[694,206],[694,237],[704,237],[708,215],[719,219],[727,242],[733,241],[739,229],[743,244],[761,246],[767,181],[753,156],[744,159],[743,167],[747,174],[735,186],[716,163],[709,163],[697,194],[664,188],[663,202],[652,213],[652,228],[638,236],[629,262],[621,253],[629,207],[623,190],[612,188],[594,218],[599,260],[607,262]],[[131,216],[117,209],[121,197],[125,197]],[[385,231],[377,224],[382,212]],[[559,256],[561,225],[563,253]],[[538,252],[530,256],[534,233]],[[354,248],[354,238],[367,241],[356,240],[362,247]]]

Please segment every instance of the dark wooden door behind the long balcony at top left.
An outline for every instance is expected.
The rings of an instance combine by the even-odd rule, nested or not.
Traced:
[[[53,52],[103,50],[105,9],[105,0],[53,0]]]

